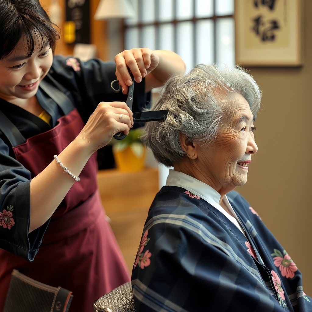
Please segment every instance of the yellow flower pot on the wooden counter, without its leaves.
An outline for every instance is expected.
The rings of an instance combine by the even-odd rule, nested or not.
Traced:
[[[113,145],[113,154],[120,171],[134,172],[144,168],[146,148],[139,142],[128,146]]]

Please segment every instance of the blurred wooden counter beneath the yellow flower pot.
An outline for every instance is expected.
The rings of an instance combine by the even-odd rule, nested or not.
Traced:
[[[98,185],[110,226],[131,273],[147,213],[158,192],[158,169],[100,170]]]

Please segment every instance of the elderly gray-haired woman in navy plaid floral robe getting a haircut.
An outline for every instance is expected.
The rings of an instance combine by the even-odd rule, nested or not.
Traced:
[[[136,311],[312,311],[302,276],[237,192],[258,150],[261,92],[240,67],[171,78],[145,142],[170,170],[149,210],[132,272]]]

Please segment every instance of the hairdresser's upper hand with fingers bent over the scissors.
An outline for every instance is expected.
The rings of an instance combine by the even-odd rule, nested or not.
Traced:
[[[116,77],[124,94],[128,92],[128,86],[132,84],[129,70],[136,82],[141,82],[147,74],[153,71],[159,63],[158,55],[148,49],[124,50],[115,56]]]

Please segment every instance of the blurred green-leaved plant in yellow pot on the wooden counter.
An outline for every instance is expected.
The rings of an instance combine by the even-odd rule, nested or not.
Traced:
[[[122,140],[113,139],[113,155],[116,167],[120,171],[140,171],[144,168],[146,148],[140,137],[143,129],[130,130]]]

